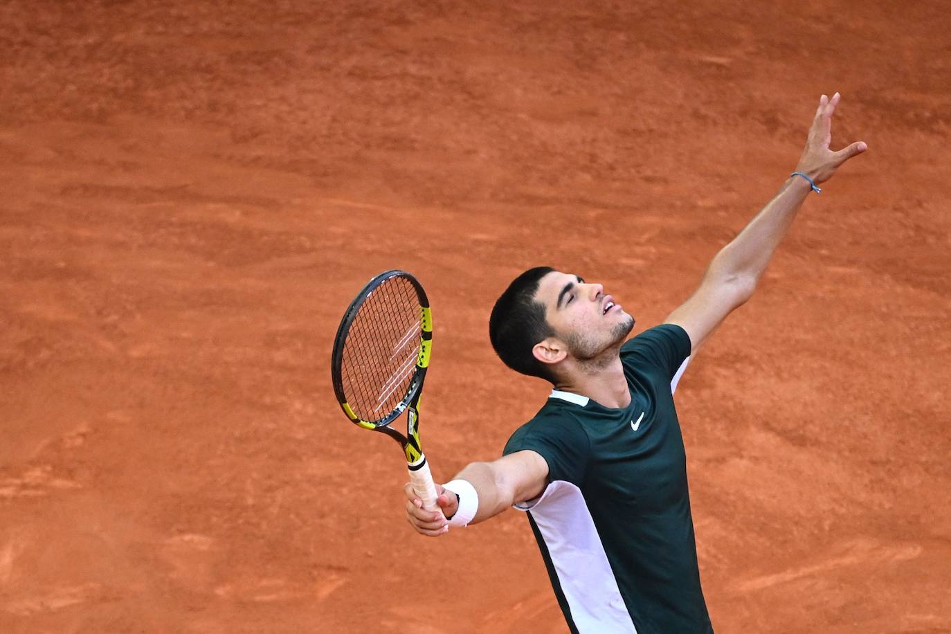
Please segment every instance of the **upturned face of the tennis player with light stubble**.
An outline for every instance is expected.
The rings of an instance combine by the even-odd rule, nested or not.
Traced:
[[[538,282],[535,300],[545,305],[548,323],[577,359],[590,359],[624,340],[634,327],[601,284],[553,271]]]

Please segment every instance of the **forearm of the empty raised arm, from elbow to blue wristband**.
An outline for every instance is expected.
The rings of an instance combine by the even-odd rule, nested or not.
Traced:
[[[790,177],[743,231],[710,261],[708,275],[746,279],[755,285],[809,191],[809,183],[804,178]]]

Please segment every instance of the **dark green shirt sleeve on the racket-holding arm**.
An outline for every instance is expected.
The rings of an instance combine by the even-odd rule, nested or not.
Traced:
[[[545,459],[549,482],[564,480],[581,487],[588,471],[591,441],[573,418],[534,418],[512,434],[502,454],[524,450],[535,451]]]

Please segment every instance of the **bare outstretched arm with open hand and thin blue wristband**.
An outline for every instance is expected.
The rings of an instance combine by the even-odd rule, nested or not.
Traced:
[[[841,164],[867,148],[864,143],[856,142],[839,151],[829,149],[832,113],[838,103],[838,92],[832,99],[825,95],[820,99],[803,155],[795,169],[815,184],[830,179]],[[691,354],[753,294],[769,259],[811,189],[810,182],[802,176],[790,176],[743,231],[710,260],[693,295],[667,317],[668,323],[678,324],[687,331]]]

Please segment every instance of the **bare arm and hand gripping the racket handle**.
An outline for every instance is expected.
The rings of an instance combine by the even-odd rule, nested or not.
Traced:
[[[476,515],[469,524],[482,522],[508,509],[516,502],[531,500],[541,494],[548,485],[548,463],[538,453],[531,450],[515,451],[493,462],[473,462],[459,471],[453,482],[468,483],[476,492],[476,498],[470,499],[476,504]],[[452,483],[447,483],[452,484]],[[465,485],[456,486],[465,489]],[[467,496],[467,490],[445,489],[437,485],[437,504],[445,517],[453,518],[459,510],[456,493]],[[442,514],[422,508],[422,501],[407,483],[406,519],[417,532],[437,537],[449,530],[449,523]]]

